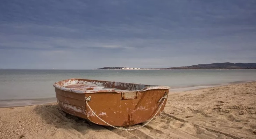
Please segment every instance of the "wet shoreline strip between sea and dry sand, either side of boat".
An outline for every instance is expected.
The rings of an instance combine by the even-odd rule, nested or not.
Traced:
[[[233,84],[243,84],[243,83],[252,83],[256,81],[235,81],[223,84],[209,84],[209,85],[191,85],[187,87],[171,87],[169,93],[177,93],[177,92],[185,92],[185,91],[193,91],[193,90],[201,90],[208,89],[214,87],[221,87]],[[55,93],[55,92],[53,92]],[[56,97],[52,98],[37,98],[37,99],[6,99],[0,100],[0,108],[13,108],[13,107],[24,107],[24,106],[33,106],[33,105],[42,105],[42,104],[50,104],[56,103]]]

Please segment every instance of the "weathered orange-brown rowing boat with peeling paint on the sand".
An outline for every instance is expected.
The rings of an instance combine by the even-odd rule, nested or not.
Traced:
[[[99,125],[127,127],[152,120],[166,104],[169,87],[87,79],[54,83],[58,105]]]

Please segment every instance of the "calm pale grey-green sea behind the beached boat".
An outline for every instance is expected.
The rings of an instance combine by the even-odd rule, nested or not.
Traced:
[[[255,81],[256,70],[0,70],[0,106],[36,103],[24,99],[55,101],[53,84],[70,78],[166,85],[170,91],[182,91]]]

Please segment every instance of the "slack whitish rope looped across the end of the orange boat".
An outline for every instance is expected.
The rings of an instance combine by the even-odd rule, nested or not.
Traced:
[[[159,105],[159,108],[158,108],[156,114],[155,114],[147,123],[145,123],[144,125],[142,125],[142,126],[140,126],[140,127],[133,128],[133,129],[118,128],[118,127],[116,127],[116,126],[113,126],[113,125],[111,125],[111,124],[105,122],[104,120],[102,120],[98,115],[96,115],[96,114],[93,112],[92,108],[91,108],[91,107],[89,106],[89,104],[87,103],[88,101],[91,100],[91,96],[89,96],[88,98],[85,97],[85,101],[86,101],[86,105],[87,105],[88,108],[92,111],[92,113],[93,113],[95,116],[97,116],[102,122],[106,123],[107,125],[109,125],[109,126],[111,126],[111,127],[113,127],[113,128],[116,128],[116,129],[121,129],[121,130],[136,130],[136,129],[142,128],[143,126],[147,125],[150,121],[152,121],[152,120],[155,118],[155,116],[156,116],[157,113],[160,111],[161,107],[163,106],[164,100],[165,100],[166,98],[167,98],[167,94],[165,93],[164,96],[158,101],[158,102],[160,102],[160,101],[163,100],[162,103]],[[87,117],[88,117],[88,116],[87,116]]]

